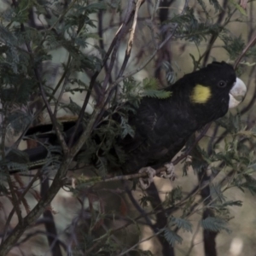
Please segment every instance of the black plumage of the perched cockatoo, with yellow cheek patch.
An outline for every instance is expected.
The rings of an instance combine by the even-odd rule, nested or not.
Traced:
[[[135,111],[128,113],[128,123],[135,130],[134,137],[118,137],[115,142],[126,154],[125,162],[120,165],[122,171],[137,172],[144,166],[160,166],[172,160],[195,131],[227,113],[234,84],[236,73],[233,67],[225,62],[212,62],[167,87],[165,90],[171,92],[168,98],[143,97],[139,107],[132,107]],[[244,96],[245,92],[242,94]],[[67,141],[73,133],[72,124],[69,125],[71,127],[63,127]],[[28,134],[50,129],[51,126],[39,126]],[[82,131],[81,126],[75,139]],[[57,143],[52,133],[39,137],[49,137],[48,143]],[[41,160],[47,154],[42,146],[25,152],[31,161]]]

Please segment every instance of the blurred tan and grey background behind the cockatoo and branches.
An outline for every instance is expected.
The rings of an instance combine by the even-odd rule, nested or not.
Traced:
[[[116,55],[113,53],[109,55],[107,64],[98,74],[96,81],[98,84],[103,84],[108,74],[110,74],[108,84],[113,84],[119,79],[120,67],[124,63],[125,53],[127,54],[129,32],[131,25],[134,24],[134,13],[127,16],[129,8],[131,8],[130,2],[125,0],[2,0],[0,2],[1,26],[13,27],[14,34],[22,23],[26,27],[32,28],[35,34],[38,32],[43,35],[45,31],[51,31],[53,38],[58,35],[58,32],[63,32],[63,37],[66,37],[69,42],[73,40],[73,31],[70,28],[65,30],[67,21],[72,23],[72,15],[75,16],[79,11],[81,14],[86,11],[86,6],[90,6],[86,13],[88,20],[83,21],[83,24],[81,23],[83,27],[81,37],[76,38],[75,44],[78,45],[81,53],[95,58],[93,60],[95,66],[89,67],[88,64],[88,68],[75,69],[76,65],[79,65],[75,61],[72,62],[73,66],[69,66],[69,79],[63,79],[60,83],[61,86],[55,92],[55,99],[60,96],[59,102],[53,101],[51,104],[52,109],[58,106],[57,117],[59,119],[76,119],[78,117],[90,80],[97,67],[100,69],[103,56],[108,55],[108,49],[112,47],[112,44],[118,45],[115,49]],[[249,42],[256,37],[255,1],[147,0],[141,1],[141,4],[137,14],[131,55],[125,66],[125,72],[121,75],[130,77],[129,74],[131,74],[137,83],[143,83],[143,79],[146,78],[155,78],[158,80],[159,87],[163,88],[173,84],[185,73],[191,73],[212,61],[226,61],[235,65],[239,55],[249,45],[236,70],[238,76],[247,84],[247,97],[239,106],[239,110],[234,109],[231,113],[232,116],[236,116],[238,113],[241,131],[253,132],[256,116],[254,111],[256,51]],[[82,6],[84,6],[84,10]],[[20,18],[22,22],[19,19],[12,20],[12,17],[15,15],[18,17],[22,12],[26,16],[22,18],[23,20]],[[126,30],[122,37],[117,39],[119,40],[119,44],[117,44],[117,41],[114,40],[117,38],[122,24],[126,26]],[[52,27],[55,30],[49,29]],[[79,30],[79,22],[75,29]],[[60,42],[55,44],[55,39],[50,38],[49,34],[46,37],[49,38],[43,44],[49,58],[40,62],[40,74],[44,78],[46,86],[50,90],[54,90],[63,77],[63,73],[66,72],[65,66],[70,65],[72,50],[70,45]],[[7,44],[6,42],[6,39],[2,38],[2,45]],[[38,39],[32,38],[32,51],[38,54],[37,45]],[[20,48],[25,49],[23,44],[20,44]],[[73,54],[72,56],[75,60],[76,55]],[[111,57],[114,61],[111,61]],[[108,73],[112,64],[111,73]],[[28,68],[32,67],[28,66]],[[84,84],[79,84],[79,81]],[[64,91],[62,90],[63,84],[66,86]],[[121,94],[123,85],[123,81],[120,81],[117,94]],[[77,90],[78,88],[80,90]],[[96,102],[99,101],[100,87],[96,86],[95,89],[90,96],[90,102],[86,108],[87,113],[92,113]],[[26,113],[26,107],[16,107],[16,109],[18,108],[19,111]],[[37,109],[38,105],[33,105],[33,108]],[[225,118],[224,121],[227,121],[230,118],[230,113]],[[34,120],[37,124],[45,124],[49,121],[49,114],[46,110],[40,113],[36,121]],[[234,119],[232,119],[233,121]],[[251,165],[253,165],[255,143],[254,133],[252,134],[246,142],[247,148],[249,148],[247,154],[252,154]],[[13,145],[18,137],[20,137],[20,132],[10,133],[6,138],[5,146]],[[208,153],[211,152],[212,145],[217,148],[218,152],[228,151],[227,142],[231,140],[232,136],[228,133],[227,125],[221,125],[217,122],[212,124],[207,131],[207,135],[201,140],[200,146],[206,151],[208,150]],[[22,141],[19,148],[24,149],[26,147],[26,141]],[[216,160],[210,166],[211,168],[218,168],[219,163],[220,160]],[[199,178],[192,166],[187,168],[186,175],[184,175],[183,166],[184,162],[176,166],[177,178],[174,181],[155,177],[154,183],[159,193],[159,199],[166,203],[166,207],[170,207],[167,199],[170,199],[170,193],[175,188],[182,188],[183,197],[190,195],[191,204],[196,202],[193,211],[187,216],[193,231],[176,230],[182,241],[178,242],[179,239],[174,239],[174,254],[170,255],[203,256],[206,254],[204,252],[201,216],[205,206],[200,201],[199,192],[191,194],[191,191],[194,191],[193,189],[198,186]],[[209,170],[212,173],[211,168]],[[255,176],[253,168],[250,169],[252,177]],[[23,173],[23,176],[18,177],[16,175],[13,177],[17,187],[26,188],[26,184],[31,181],[34,173]],[[233,176],[228,176],[229,173],[228,167],[223,168],[221,172],[218,172],[218,175],[213,175],[212,183],[218,184],[224,179],[235,177],[234,173]],[[69,172],[68,178],[70,180],[77,179],[82,174],[84,177],[93,176],[93,172],[88,172],[88,168],[86,172],[84,172],[84,168],[80,168],[76,172]],[[51,178],[49,175],[49,181]],[[34,183],[31,194],[26,195],[26,203],[23,202],[21,207],[23,214],[26,215],[37,204],[38,198],[42,196],[39,195],[41,182],[38,180]],[[50,224],[55,224],[57,229],[55,241],[60,242],[62,255],[165,255],[163,244],[155,236],[147,221],[144,218],[140,218],[138,221],[136,219],[137,216],[143,215],[145,212],[152,212],[154,204],[147,199],[148,195],[145,191],[137,187],[134,188],[132,181],[123,181],[95,184],[93,188],[82,189],[77,194],[73,194],[74,191],[70,191],[70,188],[61,189],[50,206],[50,212],[53,216]],[[229,206],[227,207],[228,210],[225,209],[227,215],[224,219],[228,220],[227,229],[219,229],[216,232],[214,241],[216,241],[217,254],[209,255],[255,256],[256,218],[254,209],[256,203],[253,194],[254,187],[253,189],[239,189],[234,183],[229,183],[228,185],[224,184],[221,188],[222,196],[226,201],[241,201],[242,203],[241,206]],[[9,196],[1,196],[0,201],[0,232],[4,234],[12,204]],[[164,216],[166,218],[168,214],[168,216],[181,216],[184,208],[183,205],[176,211],[166,212]],[[157,222],[154,212],[147,216],[152,224]],[[26,230],[19,243],[12,248],[8,255],[54,255],[52,248],[49,247],[48,233],[45,228],[47,221],[49,219],[45,216],[39,218],[32,227]],[[9,231],[15,228],[17,223],[18,218],[14,215],[9,224]],[[123,226],[125,226],[124,229],[122,229]],[[120,230],[118,230],[119,228]],[[109,234],[106,241],[102,241],[103,244],[105,243],[105,247],[101,245],[96,251],[90,250],[102,236],[108,236],[106,234],[109,230],[116,231],[111,235]],[[127,253],[125,253],[126,251]]]

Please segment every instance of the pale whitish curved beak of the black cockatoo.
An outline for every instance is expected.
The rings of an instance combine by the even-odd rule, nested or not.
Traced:
[[[247,86],[241,81],[241,79],[236,78],[236,83],[230,90],[229,108],[236,108],[243,101],[246,94]]]

